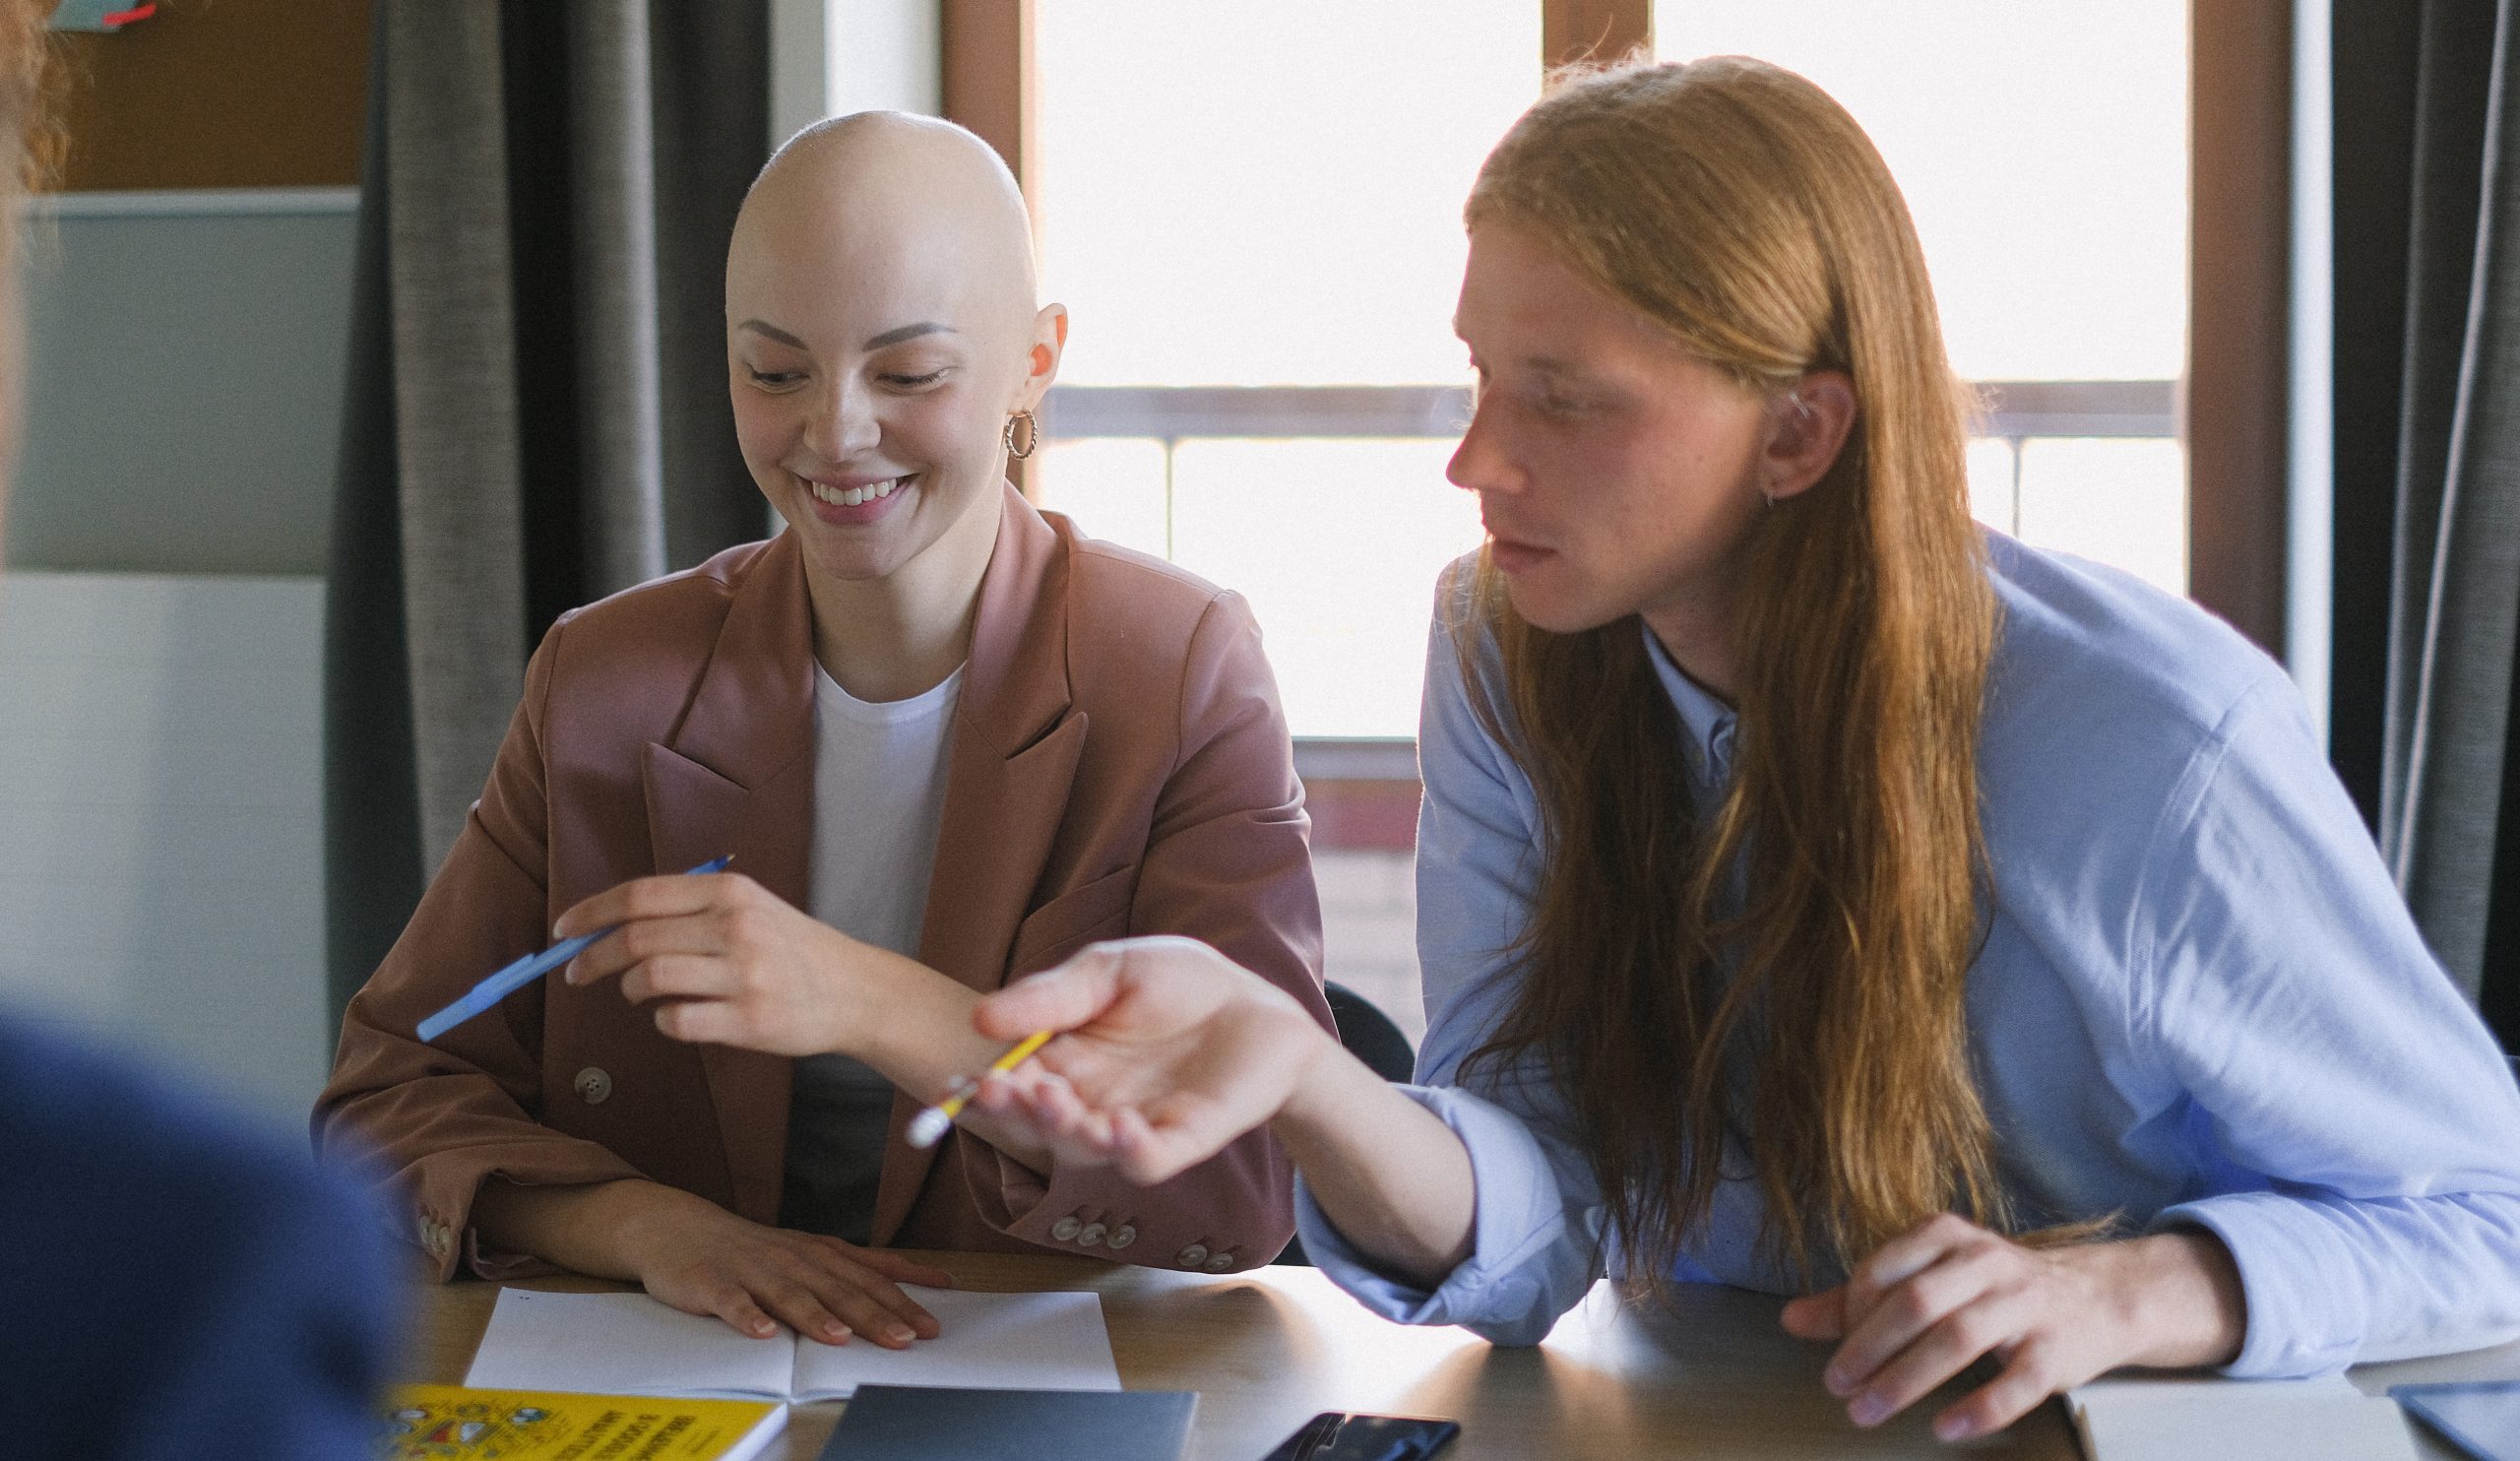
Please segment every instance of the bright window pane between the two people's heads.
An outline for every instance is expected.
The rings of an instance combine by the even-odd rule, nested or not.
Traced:
[[[1436,572],[1479,544],[1444,481],[1462,199],[1540,93],[1540,8],[1036,18],[1043,290],[1074,312],[1041,499],[1247,594],[1298,736],[1414,736]]]

